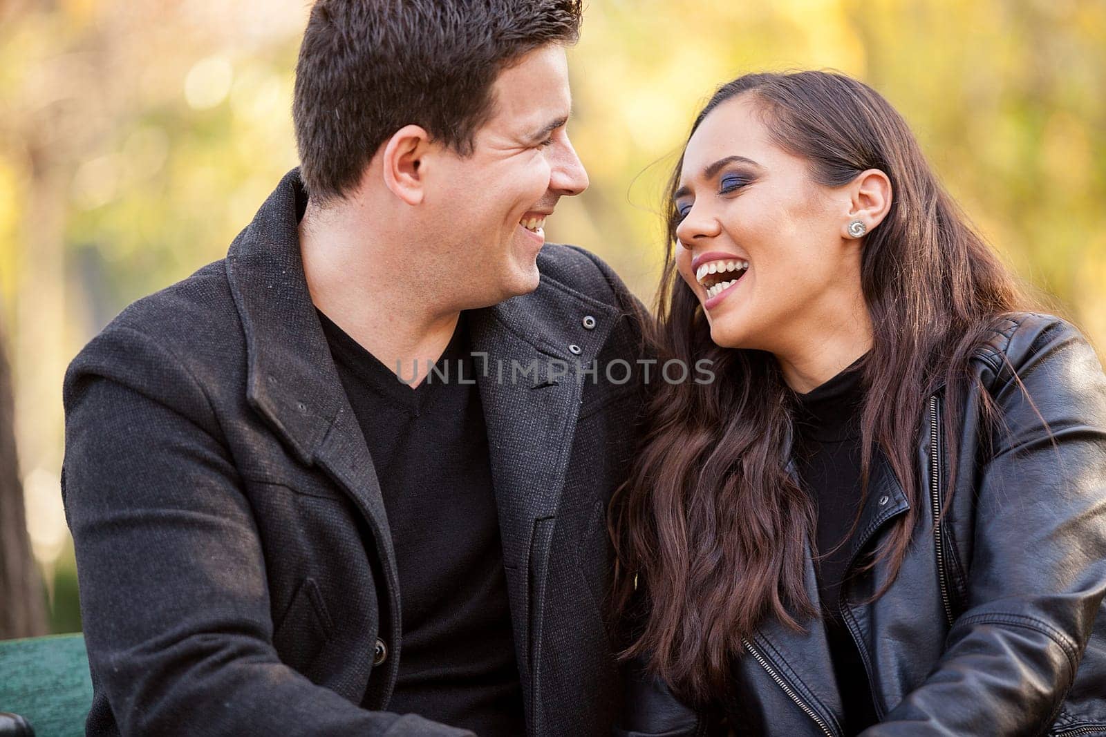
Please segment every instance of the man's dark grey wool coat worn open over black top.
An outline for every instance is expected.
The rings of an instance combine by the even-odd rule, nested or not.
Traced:
[[[129,306],[66,373],[88,734],[462,734],[387,713],[403,592],[304,280],[304,197],[292,171],[225,260]],[[470,329],[529,733],[601,735],[619,693],[605,507],[643,394],[602,366],[635,362],[641,318],[582,250],[546,245],[539,267],[535,292]],[[553,359],[598,359],[598,380]],[[512,382],[511,360],[539,376]]]

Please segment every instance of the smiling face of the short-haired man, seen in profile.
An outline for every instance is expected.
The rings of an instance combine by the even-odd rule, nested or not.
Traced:
[[[447,152],[428,172],[436,242],[424,248],[439,272],[435,292],[462,309],[538,288],[544,220],[562,196],[587,188],[565,130],[572,97],[561,45],[503,70],[493,101],[472,155]]]

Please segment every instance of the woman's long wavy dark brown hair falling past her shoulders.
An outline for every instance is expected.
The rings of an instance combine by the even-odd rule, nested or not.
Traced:
[[[862,489],[878,450],[910,512],[866,561],[887,562],[879,597],[901,566],[921,507],[914,455],[924,406],[945,387],[943,435],[952,443],[971,388],[972,350],[1026,298],[938,183],[901,116],[874,90],[825,72],[750,74],[719,88],[691,133],[739,95],[753,101],[774,143],[805,159],[817,182],[841,187],[867,169],[891,182],[890,210],[865,236],[862,255],[874,329],[863,365]],[[654,385],[637,463],[611,512],[613,606],[628,623],[624,656],[645,655],[685,698],[703,703],[724,694],[742,639],[762,618],[802,629],[817,614],[803,580],[815,513],[786,470],[795,394],[779,364],[768,352],[714,345],[698,298],[677,273],[672,194],[681,167],[682,158],[668,193],[653,340],[661,362],[709,358],[717,378]]]

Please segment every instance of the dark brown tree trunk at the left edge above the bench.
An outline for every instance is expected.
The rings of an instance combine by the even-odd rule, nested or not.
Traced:
[[[45,634],[42,581],[31,555],[15,457],[11,370],[0,317],[0,640]]]

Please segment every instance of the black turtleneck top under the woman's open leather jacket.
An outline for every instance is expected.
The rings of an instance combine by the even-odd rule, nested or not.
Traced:
[[[841,587],[860,503],[863,358],[813,391],[799,394],[795,462],[817,508],[816,570],[830,655],[847,734],[877,722],[864,661],[841,618]]]

